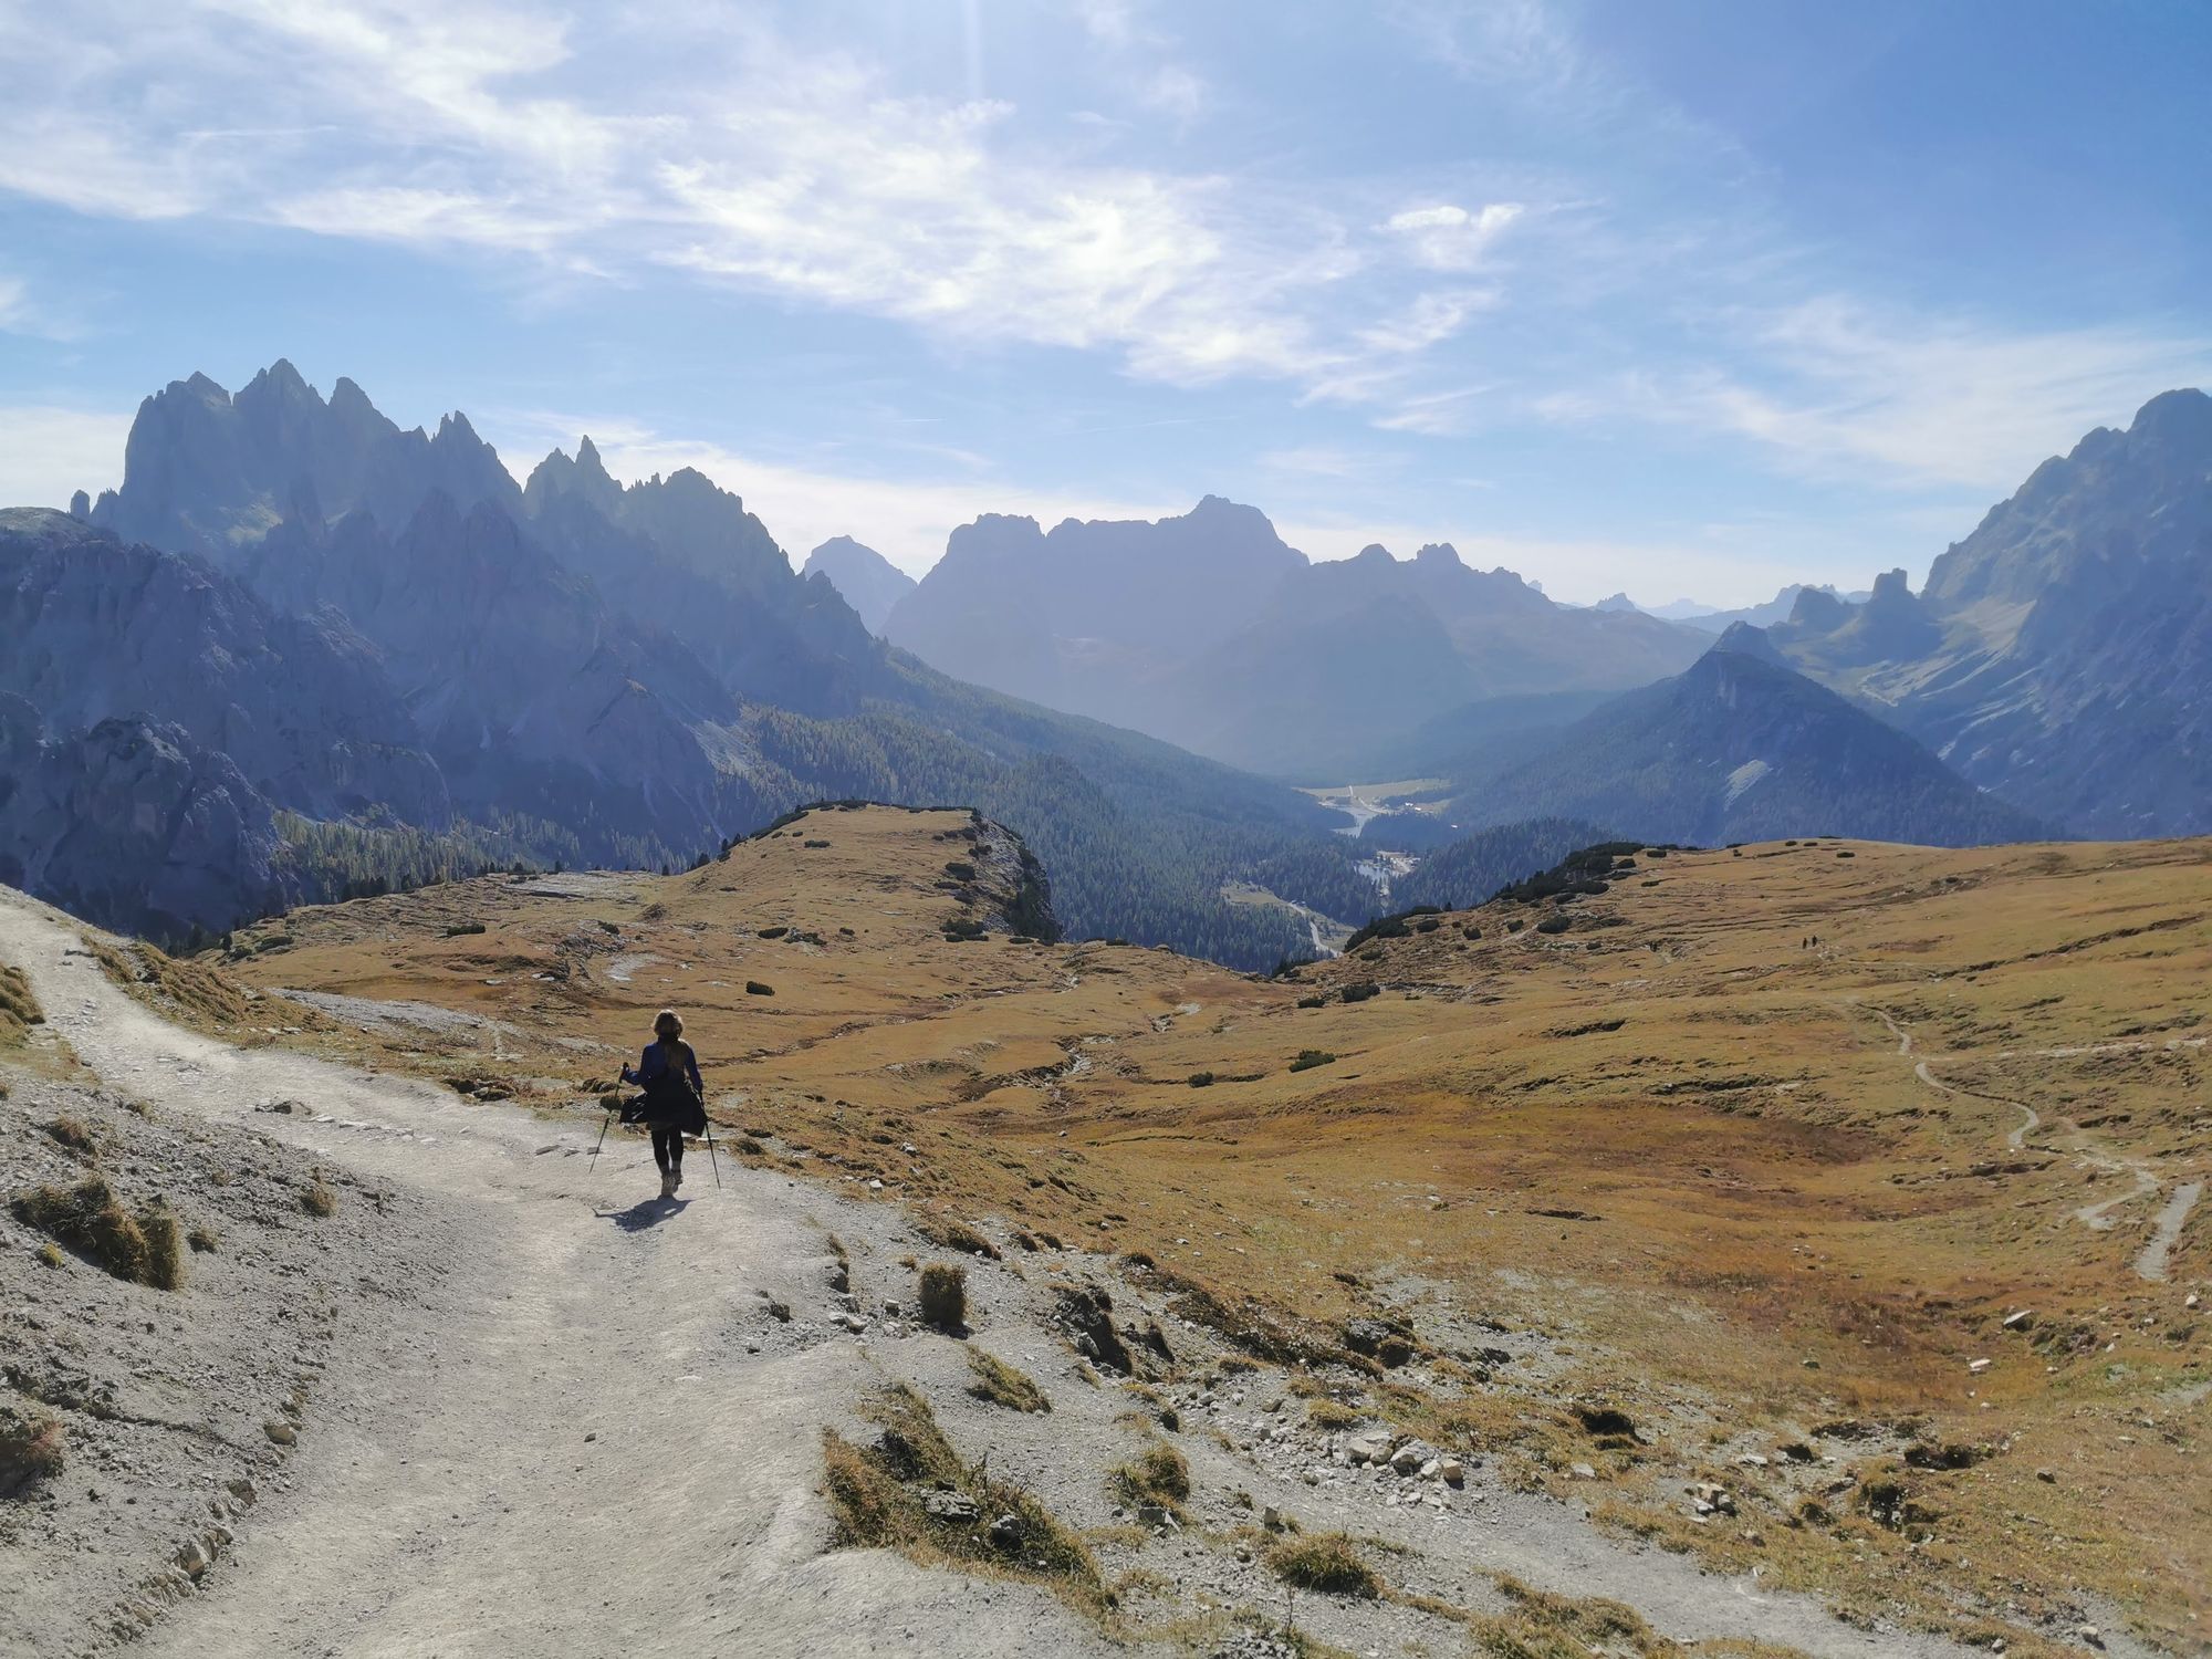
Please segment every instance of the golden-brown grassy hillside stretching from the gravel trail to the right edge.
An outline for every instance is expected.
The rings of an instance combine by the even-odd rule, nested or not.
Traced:
[[[1015,1243],[1141,1252],[1177,1312],[1261,1360],[1338,1356],[1385,1285],[1442,1363],[1371,1378],[1380,1416],[1526,1484],[1586,1462],[1577,1495],[1714,1564],[1944,1628],[1962,1604],[2033,1619],[2068,1584],[2163,1641],[2212,1619],[2188,1453],[2212,1323],[2181,1305],[2212,1274],[2212,1206],[2172,1283],[2132,1270],[2163,1192],[2208,1164],[2203,843],[1672,854],[1564,933],[1506,907],[1261,982],[947,942],[938,836],[962,823],[847,812],[686,876],[303,909],[288,949],[241,938],[228,971],[498,1022],[252,1015],[538,1104],[595,1095],[675,1004],[717,1117],[770,1164]],[[1336,1060],[1292,1073],[1307,1051]],[[2128,1199],[2132,1166],[2161,1199]],[[2108,1199],[2110,1228],[2077,1219]],[[1542,1360],[1482,1358],[1480,1332],[1436,1323],[1444,1292]],[[2033,1325],[2002,1329],[2020,1307]],[[1646,1440],[1593,1444],[1568,1405],[1597,1396]],[[1847,1498],[1805,1522],[1801,1478],[1734,1464],[1845,1420],[1880,1433],[1820,1436],[1825,1478],[1880,1478],[1905,1429],[2004,1449],[1905,1467],[1933,1542]],[[1741,1486],[1734,1524],[1686,1513],[1708,1460]]]

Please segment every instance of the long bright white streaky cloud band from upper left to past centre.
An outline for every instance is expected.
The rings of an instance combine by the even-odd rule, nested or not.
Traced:
[[[1402,292],[1380,259],[1398,232],[1248,177],[1057,153],[1018,135],[1006,102],[900,91],[880,64],[752,20],[679,29],[672,49],[650,24],[595,18],[606,33],[584,38],[586,22],[502,0],[197,0],[142,49],[133,13],[13,13],[0,188],[571,272],[677,270],[947,341],[1115,352],[1175,385],[1374,398],[1467,314]],[[1203,77],[1159,55],[1148,18],[1104,2],[1079,18],[1146,53],[1137,104],[1199,115]],[[108,44],[84,55],[86,38]],[[597,55],[633,73],[593,75]],[[71,58],[66,97],[20,66]],[[257,133],[232,137],[246,104]],[[1484,210],[1460,230],[1498,223]]]

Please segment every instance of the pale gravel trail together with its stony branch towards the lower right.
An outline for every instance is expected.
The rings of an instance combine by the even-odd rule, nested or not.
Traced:
[[[962,1352],[945,1338],[830,1334],[823,1223],[891,1254],[911,1248],[891,1206],[734,1161],[714,1190],[699,1157],[688,1201],[633,1203],[655,1186],[650,1164],[635,1141],[611,1139],[593,1175],[597,1115],[465,1106],[411,1079],[181,1031],[113,987],[66,918],[18,896],[0,896],[0,960],[29,973],[51,1026],[111,1086],[405,1188],[465,1239],[447,1279],[394,1314],[383,1354],[332,1367],[290,1486],[241,1524],[201,1593],[161,1617],[144,1644],[153,1655],[1126,1650],[1042,1590],[880,1551],[825,1553],[821,1431],[856,1431],[863,1389],[914,1378],[956,1436],[962,1411],[969,1427],[993,1411],[962,1405]],[[307,1110],[257,1110],[276,1099]],[[971,1276],[1000,1312],[995,1349],[1031,1365],[1064,1352],[1035,1281],[998,1263]],[[761,1343],[763,1292],[799,1312],[779,1329],[821,1334]],[[993,1469],[1004,1458],[1082,1520],[1084,1504],[1106,1502],[1104,1469],[1130,1442],[1115,1420],[1119,1394],[1060,1369],[1040,1369],[1053,1418],[995,1427]],[[1438,1582],[1475,1604],[1495,1595],[1491,1573],[1513,1571],[1628,1601],[1677,1639],[1736,1637],[1823,1659],[1964,1652],[1896,1628],[1858,1630],[1756,1579],[1708,1577],[1551,1500],[1484,1491],[1493,1513],[1444,1526],[1385,1511],[1376,1493],[1316,1493],[1197,1436],[1190,1451],[1212,1489],[1243,1482],[1314,1524],[1402,1533]],[[1172,1540],[1161,1548],[1190,1553]],[[1241,1593],[1256,1599],[1256,1582]],[[1427,1650],[1436,1635],[1389,1604],[1307,1617],[1367,1621],[1329,1632],[1360,1650]]]

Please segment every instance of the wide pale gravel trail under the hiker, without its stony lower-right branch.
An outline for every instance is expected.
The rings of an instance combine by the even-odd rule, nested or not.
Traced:
[[[655,1186],[633,1141],[586,1186],[588,1157],[540,1157],[586,1148],[582,1124],[164,1024],[20,900],[0,960],[111,1084],[473,1212],[354,1420],[310,1413],[294,1489],[150,1652],[1108,1650],[1042,1593],[823,1553],[821,1427],[876,1367],[858,1343],[748,1356],[734,1334],[763,1287],[821,1296],[825,1237],[783,1179],[726,1164],[717,1192],[699,1159],[690,1203],[619,1208]],[[254,1113],[268,1099],[316,1117]]]

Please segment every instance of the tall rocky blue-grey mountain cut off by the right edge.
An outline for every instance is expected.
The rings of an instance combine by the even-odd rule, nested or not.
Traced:
[[[1896,571],[1772,633],[2037,816],[2212,830],[2212,398],[2168,392],[2046,460],[1920,595]]]

